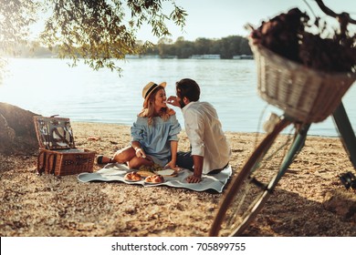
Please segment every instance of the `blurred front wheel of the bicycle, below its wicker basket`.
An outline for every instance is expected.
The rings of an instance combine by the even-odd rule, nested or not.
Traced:
[[[291,138],[281,135],[281,132],[288,127],[294,128],[294,124],[286,118],[281,119],[273,131],[261,141],[246,161],[245,166],[232,180],[215,214],[209,236],[241,235],[252,220],[257,217],[258,212],[263,208],[270,193],[277,185],[279,167],[295,138],[294,136]],[[286,144],[281,143],[281,137],[288,138],[288,142]],[[280,146],[277,144],[280,144]],[[281,146],[283,146],[282,150]],[[273,151],[274,149],[276,151]],[[282,155],[273,155],[274,152],[279,154],[277,150]],[[278,159],[281,160],[275,162],[275,158],[269,159],[268,157],[280,157]],[[266,162],[263,162],[264,159],[266,159]],[[262,169],[262,166],[268,168]],[[272,169],[269,170],[270,168]],[[249,189],[246,190],[245,188]]]

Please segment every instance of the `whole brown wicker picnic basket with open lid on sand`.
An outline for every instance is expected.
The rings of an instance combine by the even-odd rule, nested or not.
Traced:
[[[55,176],[93,172],[95,151],[76,148],[67,117],[34,117],[39,153],[38,173]]]

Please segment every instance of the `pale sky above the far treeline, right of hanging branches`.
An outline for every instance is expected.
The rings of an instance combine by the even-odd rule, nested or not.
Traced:
[[[306,1],[316,15],[326,16],[314,0]],[[293,7],[298,7],[311,16],[310,9],[303,0],[176,0],[175,3],[183,7],[188,16],[184,32],[179,27],[169,25],[173,41],[179,36],[188,41],[199,37],[247,36],[248,31],[244,28],[247,23],[257,27],[262,20],[285,13]],[[324,0],[324,4],[336,13],[347,11],[356,19],[356,0]],[[147,27],[139,31],[138,38],[151,40],[152,43],[158,41]]]

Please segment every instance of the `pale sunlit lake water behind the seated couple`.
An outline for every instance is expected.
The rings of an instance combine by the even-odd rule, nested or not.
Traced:
[[[267,103],[257,96],[254,60],[129,59],[119,62],[122,76],[89,66],[69,67],[61,59],[10,59],[0,85],[0,102],[25,108],[43,116],[58,114],[72,121],[131,125],[141,110],[141,89],[148,82],[167,82],[174,95],[175,82],[190,77],[200,85],[201,101],[212,103],[225,131],[257,132]],[[356,87],[343,98],[356,129]],[[180,109],[175,108],[183,126]],[[276,107],[267,112],[280,113]],[[337,136],[328,117],[313,124],[309,134]]]

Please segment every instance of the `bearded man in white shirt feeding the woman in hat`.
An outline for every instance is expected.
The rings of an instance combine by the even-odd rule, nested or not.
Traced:
[[[177,97],[169,97],[167,103],[182,108],[185,132],[191,143],[191,151],[178,152],[177,165],[194,170],[187,181],[197,183],[202,180],[202,174],[215,174],[224,169],[231,149],[215,108],[199,101],[198,84],[184,78],[176,83],[175,89]]]

